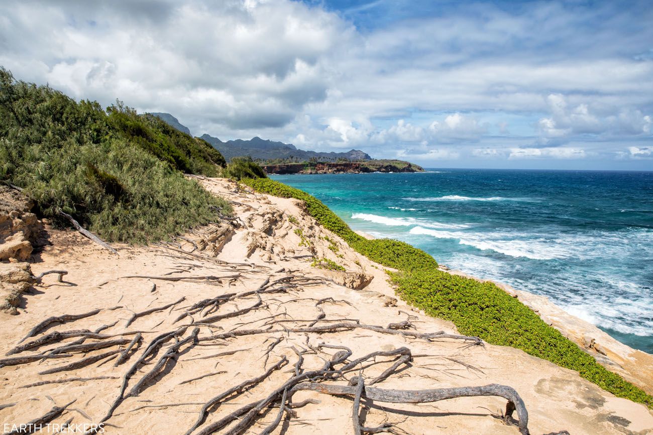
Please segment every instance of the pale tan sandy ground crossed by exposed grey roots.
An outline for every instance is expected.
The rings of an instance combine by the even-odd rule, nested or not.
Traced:
[[[571,370],[513,348],[488,344],[468,346],[470,342],[458,338],[424,340],[369,329],[289,331],[346,319],[342,322],[382,327],[409,320],[409,329],[400,331],[457,333],[450,322],[431,318],[396,301],[383,268],[321,228],[296,200],[253,194],[221,179],[200,182],[232,201],[238,217],[233,225],[221,222],[219,226],[198,228],[174,243],[116,246],[118,256],[93,245],[78,233],[49,231],[50,245],[33,257],[32,271],[37,275],[64,269],[68,274],[64,282],[57,282],[56,275],[44,277],[31,293],[24,294],[18,316],[0,314],[2,353],[17,346],[21,338],[46,318],[87,313],[96,308],[101,309],[97,314],[52,323],[22,344],[54,331],[95,331],[103,325],[108,327],[101,334],[115,337],[87,338],[82,344],[117,339],[123,339],[124,343],[87,353],[71,351],[66,353],[69,357],[1,367],[0,423],[5,432],[11,425],[32,421],[53,406],[63,406],[73,400],[53,423],[70,419],[78,425],[98,423],[119,396],[123,376],[155,337],[177,331],[177,336],[165,342],[154,357],[136,367],[127,383],[127,392],[155,369],[170,346],[190,337],[193,327],[198,327],[200,341],[182,343],[168,363],[155,370],[155,376],[148,376],[148,382],[119,404],[106,421],[104,432],[183,434],[193,427],[208,400],[260,376],[287,358],[283,367],[271,370],[262,382],[210,408],[206,422],[193,432],[202,433],[202,428],[250,402],[263,399],[295,376],[296,352],[304,357],[301,366],[304,370],[322,367],[341,351],[320,346],[327,344],[349,348],[352,352],[349,361],[371,352],[402,347],[409,348],[412,355],[420,355],[374,385],[383,389],[509,385],[528,408],[528,427],[532,434],[560,430],[574,435],[653,433],[653,414],[645,406],[616,398]],[[314,258],[328,258],[347,271],[313,267]],[[258,295],[252,292],[266,281],[273,285]],[[224,299],[219,306],[186,314],[195,303],[227,293],[236,295]],[[179,301],[182,297],[185,299]],[[167,308],[155,310],[162,307]],[[127,326],[133,314],[148,310],[151,312],[138,316]],[[232,315],[236,313],[239,314]],[[211,319],[221,315],[223,318]],[[259,332],[225,336],[230,331],[244,329]],[[108,359],[111,357],[108,355],[86,367],[39,374],[93,355],[112,351],[112,355],[118,355],[116,352],[125,350],[138,332],[142,343],[118,367],[114,367],[116,359]],[[51,342],[3,358],[37,355],[78,338]],[[347,385],[347,379],[357,375],[369,383],[394,361],[394,357],[376,357],[357,365],[344,379],[328,383]],[[102,379],[71,380],[93,377]],[[65,380],[69,382],[27,386]],[[306,399],[312,402],[301,406]],[[298,391],[292,402],[296,407],[284,413],[281,424],[271,433],[353,433],[351,397]],[[505,403],[500,397],[455,398],[433,404],[391,404],[364,399],[361,415],[367,427],[393,423],[396,433],[518,434],[517,427],[501,419]],[[246,433],[264,433],[278,412],[278,406],[264,408]],[[223,432],[231,427],[233,424]],[[54,432],[43,430],[42,433]]]

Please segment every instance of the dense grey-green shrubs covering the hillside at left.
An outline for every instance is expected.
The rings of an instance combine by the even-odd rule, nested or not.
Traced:
[[[0,67],[0,182],[24,189],[43,217],[59,211],[108,241],[144,243],[205,224],[231,206],[182,172],[214,176],[208,143],[117,103],[76,102]],[[215,207],[215,208],[214,208]]]

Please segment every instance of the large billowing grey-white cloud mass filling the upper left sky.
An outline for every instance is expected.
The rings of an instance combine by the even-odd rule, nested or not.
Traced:
[[[282,127],[324,100],[324,58],[353,32],[335,14],[291,1],[25,1],[6,9],[0,32],[12,43],[0,63],[17,77],[232,130]]]

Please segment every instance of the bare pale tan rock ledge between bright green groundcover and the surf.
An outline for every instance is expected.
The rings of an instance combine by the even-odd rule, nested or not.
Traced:
[[[351,225],[351,224],[350,224]],[[368,240],[374,236],[360,230],[352,230]],[[436,259],[437,261],[437,259]],[[439,269],[451,275],[471,278],[479,282],[492,282],[509,295],[519,299],[531,308],[547,325],[558,329],[565,337],[575,342],[584,352],[592,355],[597,363],[623,376],[647,393],[653,393],[653,372],[641,370],[642,367],[653,367],[653,355],[633,349],[602,331],[596,325],[566,312],[552,303],[547,296],[536,295],[526,290],[517,290],[508,284],[496,280],[485,279],[458,269],[450,269],[439,264]]]

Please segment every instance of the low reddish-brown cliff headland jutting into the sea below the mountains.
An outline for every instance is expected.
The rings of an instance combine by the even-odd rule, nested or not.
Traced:
[[[373,160],[374,161],[374,160]],[[371,162],[284,163],[261,166],[266,173],[370,173],[370,172],[421,172],[420,166],[406,162],[394,164],[371,164]]]

